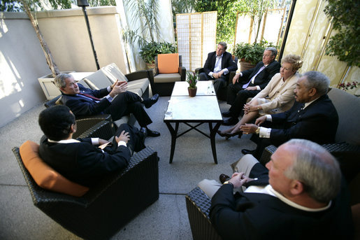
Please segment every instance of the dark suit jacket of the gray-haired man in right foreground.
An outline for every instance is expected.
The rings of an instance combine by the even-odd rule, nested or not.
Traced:
[[[265,173],[266,168],[261,167]],[[224,184],[211,200],[210,220],[226,240],[352,239],[353,224],[348,201],[345,182],[331,207],[319,212],[296,209],[264,193],[233,195],[233,186]]]

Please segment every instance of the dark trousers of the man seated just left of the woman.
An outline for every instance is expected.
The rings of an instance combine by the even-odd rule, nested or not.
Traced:
[[[243,90],[243,84],[230,84],[227,87],[227,104],[231,105],[229,111],[234,118],[243,115],[243,108],[246,100],[249,97],[255,97],[260,91],[258,90]]]

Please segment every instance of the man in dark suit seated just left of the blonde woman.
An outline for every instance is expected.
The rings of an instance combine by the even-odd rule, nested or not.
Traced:
[[[275,61],[278,55],[276,48],[266,48],[263,60],[252,69],[236,73],[233,84],[227,87],[227,104],[229,111],[222,113],[225,118],[223,125],[235,125],[239,115],[243,115],[243,107],[249,97],[255,97],[263,90],[276,73],[280,72],[280,64]]]

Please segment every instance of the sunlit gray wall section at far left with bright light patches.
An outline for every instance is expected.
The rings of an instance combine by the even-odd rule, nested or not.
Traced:
[[[0,127],[45,100],[37,78],[50,72],[26,15],[5,15],[0,19]]]

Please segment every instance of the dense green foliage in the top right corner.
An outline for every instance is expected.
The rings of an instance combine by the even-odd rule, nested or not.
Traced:
[[[337,33],[331,36],[325,54],[337,56],[348,66],[360,67],[359,1],[327,0],[327,2],[324,12],[331,19],[333,29]]]

